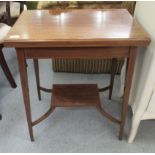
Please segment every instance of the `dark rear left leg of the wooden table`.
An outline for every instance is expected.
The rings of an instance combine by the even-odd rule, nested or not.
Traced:
[[[38,63],[38,59],[33,59],[33,64],[34,64],[34,71],[35,71],[35,77],[36,77],[38,98],[39,98],[39,100],[41,100],[41,90],[40,90],[40,78],[39,78],[39,63]]]

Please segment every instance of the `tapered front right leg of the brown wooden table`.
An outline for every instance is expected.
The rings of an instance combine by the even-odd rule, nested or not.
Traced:
[[[125,120],[128,113],[128,100],[129,100],[130,88],[131,88],[132,77],[134,72],[134,64],[136,60],[136,51],[137,51],[136,47],[130,47],[128,65],[127,65],[127,75],[126,75],[126,81],[125,81],[125,91],[124,91],[123,103],[122,103],[121,124],[120,124],[120,133],[119,133],[120,140],[122,140],[122,137],[123,137]]]

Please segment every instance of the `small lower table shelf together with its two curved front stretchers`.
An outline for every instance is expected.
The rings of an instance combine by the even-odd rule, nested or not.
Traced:
[[[54,84],[53,95],[49,110],[40,118],[32,122],[32,126],[45,120],[56,107],[83,107],[91,106],[114,123],[121,121],[107,113],[101,106],[99,91],[96,84]]]

